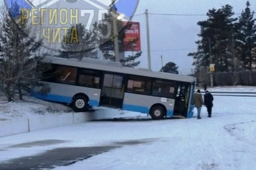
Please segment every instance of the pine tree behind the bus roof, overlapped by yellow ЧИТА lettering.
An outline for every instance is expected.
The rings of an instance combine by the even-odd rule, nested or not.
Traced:
[[[62,58],[77,58],[81,60],[83,57],[98,58],[97,57],[97,37],[98,33],[96,31],[97,25],[94,24],[94,29],[87,30],[85,26],[81,23],[77,24],[75,27],[71,27],[67,31],[67,35],[64,35],[62,41],[62,50],[60,51],[59,57]],[[79,42],[71,42],[71,35],[73,31],[77,31]]]

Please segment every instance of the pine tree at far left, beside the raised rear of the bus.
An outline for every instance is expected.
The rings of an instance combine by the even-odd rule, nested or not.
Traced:
[[[19,6],[13,5],[13,11],[19,11]],[[41,42],[35,42],[29,37],[27,26],[18,27],[4,8],[0,21],[0,90],[4,92],[9,102],[14,100],[14,93],[19,91],[22,99],[22,89],[37,82],[35,63],[42,57],[36,55]]]

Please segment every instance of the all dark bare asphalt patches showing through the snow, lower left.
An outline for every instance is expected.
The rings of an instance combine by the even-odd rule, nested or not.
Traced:
[[[122,121],[122,120],[120,120]],[[100,153],[108,152],[112,149],[120,148],[126,145],[136,145],[153,142],[153,139],[128,140],[122,142],[113,142],[111,146],[90,146],[90,147],[65,147],[45,151],[38,155],[25,156],[10,159],[0,163],[0,170],[48,170],[57,166],[67,166],[77,161],[90,158]],[[33,146],[50,146],[60,144],[64,140],[40,140],[8,146],[8,148],[31,148]]]

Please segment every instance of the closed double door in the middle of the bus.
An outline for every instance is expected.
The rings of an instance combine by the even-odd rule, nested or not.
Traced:
[[[104,74],[100,96],[100,106],[122,108],[124,97],[124,77],[116,74]]]

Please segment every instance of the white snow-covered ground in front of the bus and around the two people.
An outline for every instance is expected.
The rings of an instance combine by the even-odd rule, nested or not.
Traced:
[[[256,92],[256,87],[225,87],[225,90]],[[146,117],[145,120],[93,121],[1,137],[0,163],[59,147],[122,144],[118,149],[55,170],[254,170],[256,97],[214,98],[212,118],[207,117],[204,107],[200,120],[194,117],[154,121]],[[40,140],[65,142],[10,147]]]

